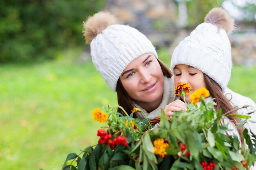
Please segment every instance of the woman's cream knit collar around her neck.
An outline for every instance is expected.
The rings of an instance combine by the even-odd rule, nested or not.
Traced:
[[[159,116],[159,113],[161,113],[161,108],[164,109],[164,107],[167,104],[170,104],[174,100],[178,99],[178,97],[174,93],[175,87],[174,87],[174,77],[167,78],[164,76],[164,93],[163,93],[163,99],[161,104],[152,112],[148,113],[144,108],[141,108],[139,105],[134,103],[134,107],[140,108],[146,115],[148,119],[153,119],[157,116]],[[144,115],[142,113],[135,113],[137,114],[137,117],[139,119],[144,119]]]

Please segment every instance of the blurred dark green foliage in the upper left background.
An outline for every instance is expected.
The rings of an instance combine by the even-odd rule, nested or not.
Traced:
[[[104,0],[3,0],[0,63],[54,59],[57,50],[84,42],[82,22]]]

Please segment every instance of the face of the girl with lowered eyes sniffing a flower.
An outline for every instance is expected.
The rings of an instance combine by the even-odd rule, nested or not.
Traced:
[[[184,82],[190,85],[190,93],[186,95],[186,102],[190,101],[190,95],[199,88],[206,88],[206,84],[204,82],[204,74],[202,71],[185,65],[185,64],[178,64],[174,67],[174,84],[177,86],[178,84]],[[182,97],[183,99],[183,97]]]

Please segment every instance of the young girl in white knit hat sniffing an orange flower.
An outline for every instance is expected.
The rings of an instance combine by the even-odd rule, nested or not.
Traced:
[[[190,36],[186,37],[175,48],[171,58],[171,70],[175,76],[175,86],[181,82],[188,83],[191,92],[185,97],[186,102],[190,102],[190,94],[199,88],[207,88],[210,91],[211,98],[215,98],[215,109],[222,109],[222,114],[233,110],[234,107],[250,105],[250,108],[238,110],[239,114],[247,114],[255,110],[256,104],[252,99],[234,93],[227,88],[231,77],[231,46],[227,36],[233,29],[233,20],[227,13],[220,8],[209,11],[204,19],[204,23],[198,25]],[[184,108],[184,102],[173,104],[175,107]],[[170,107],[169,107],[170,108]],[[249,109],[249,110],[248,110]],[[167,109],[166,116],[172,114],[172,110]],[[256,120],[255,112],[251,114],[251,119]],[[233,127],[240,122],[240,119],[234,116],[227,117],[224,124],[229,122]],[[232,126],[233,125],[233,126]],[[255,133],[255,124],[248,121],[252,132]],[[235,134],[243,139],[243,129],[235,130]],[[242,141],[242,140],[241,140]]]

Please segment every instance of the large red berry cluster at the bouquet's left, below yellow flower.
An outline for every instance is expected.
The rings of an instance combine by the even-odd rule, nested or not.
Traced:
[[[97,136],[100,137],[99,138],[99,143],[100,144],[107,144],[112,149],[114,149],[117,144],[123,145],[123,146],[127,146],[128,145],[128,141],[126,141],[126,137],[119,136],[119,137],[114,138],[113,140],[111,140],[112,135],[111,134],[107,135],[107,131],[106,130],[99,129],[98,132],[97,132]]]

